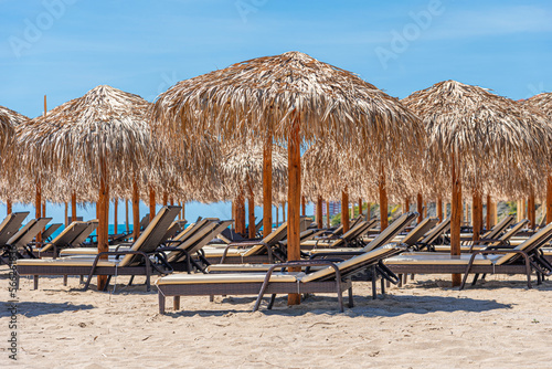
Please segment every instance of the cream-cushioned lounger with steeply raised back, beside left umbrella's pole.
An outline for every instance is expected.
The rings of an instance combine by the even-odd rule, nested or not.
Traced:
[[[87,289],[94,275],[107,275],[109,285],[113,275],[145,275],[147,289],[150,289],[151,274],[168,274],[172,268],[164,255],[157,251],[167,229],[180,212],[180,207],[163,207],[129,250],[102,252],[91,257],[62,257],[55,260],[19,260],[19,275],[33,275],[34,288],[39,286],[40,275],[88,275],[84,289]],[[105,260],[103,257],[109,257]],[[124,256],[118,260],[115,257]]]

